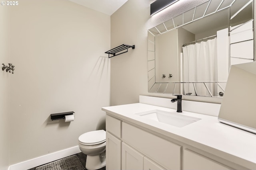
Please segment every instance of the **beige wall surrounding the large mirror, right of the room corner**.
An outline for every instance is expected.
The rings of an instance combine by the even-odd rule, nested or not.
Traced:
[[[136,103],[139,95],[174,98],[171,94],[148,93],[147,30],[186,12],[207,0],[180,0],[150,17],[149,0],[128,0],[111,16],[111,47],[135,45],[128,53],[111,58],[111,105]],[[183,96],[185,100],[220,103],[220,98]]]

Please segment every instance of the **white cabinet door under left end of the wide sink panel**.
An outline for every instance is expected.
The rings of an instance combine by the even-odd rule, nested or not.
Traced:
[[[122,170],[143,170],[143,157],[144,155],[122,143]]]

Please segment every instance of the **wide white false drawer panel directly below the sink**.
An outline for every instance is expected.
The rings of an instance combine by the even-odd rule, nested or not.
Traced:
[[[125,122],[122,123],[122,141],[168,170],[181,170],[180,145]]]

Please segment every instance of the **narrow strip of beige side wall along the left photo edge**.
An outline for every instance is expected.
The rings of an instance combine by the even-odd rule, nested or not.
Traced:
[[[10,63],[10,8],[0,6],[0,64]],[[10,138],[10,77],[12,74],[0,71],[0,170],[9,165]]]

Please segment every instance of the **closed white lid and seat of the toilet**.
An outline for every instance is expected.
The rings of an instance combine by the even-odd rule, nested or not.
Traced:
[[[98,131],[90,131],[86,132],[78,138],[80,143],[84,144],[100,144],[106,141],[106,131],[98,130]]]

